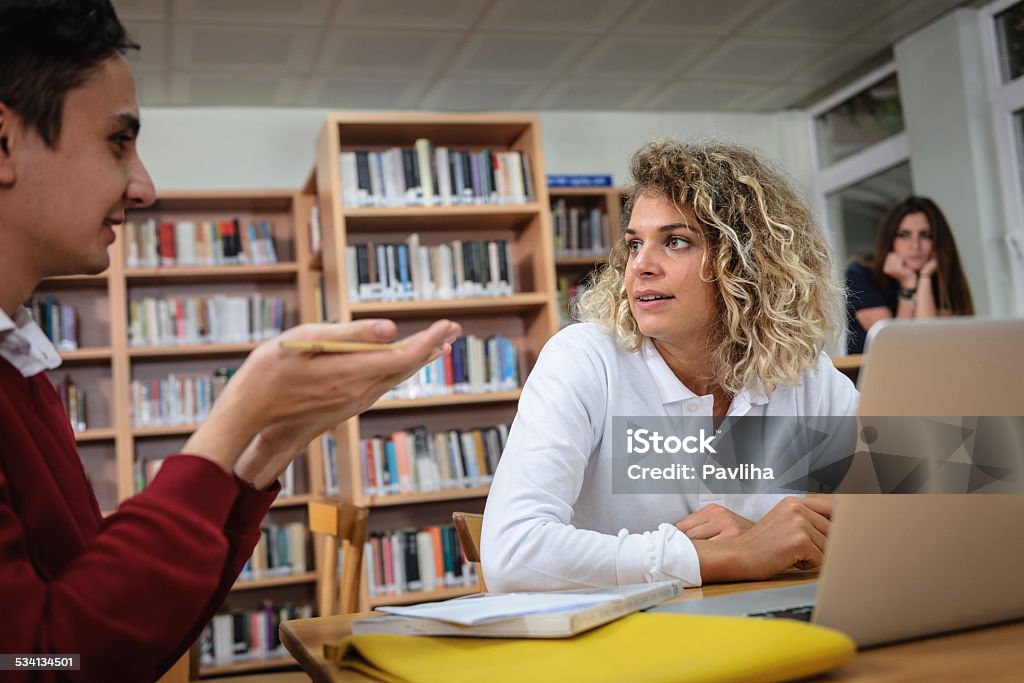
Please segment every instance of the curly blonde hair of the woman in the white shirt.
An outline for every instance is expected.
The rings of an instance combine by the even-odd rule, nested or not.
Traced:
[[[706,245],[703,276],[717,290],[709,339],[711,378],[731,395],[760,380],[771,393],[817,366],[843,319],[843,290],[810,210],[783,175],[744,147],[654,140],[630,164],[623,225],[637,199],[665,196],[689,207]],[[626,293],[629,252],[623,240],[577,315],[617,333],[630,350],[643,335]]]

